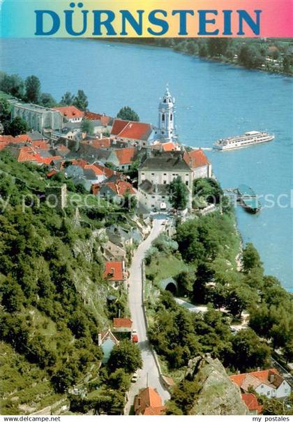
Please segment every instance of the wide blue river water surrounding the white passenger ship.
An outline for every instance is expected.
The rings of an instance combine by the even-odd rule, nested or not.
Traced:
[[[239,207],[236,216],[244,242],[257,247],[266,274],[293,289],[293,78],[163,48],[93,40],[5,39],[0,54],[1,70],[23,78],[37,75],[43,92],[57,100],[66,91],[84,89],[91,110],[116,115],[127,105],[153,124],[168,82],[176,98],[179,138],[193,147],[211,147],[218,138],[244,131],[274,133],[271,143],[206,154],[224,188],[248,184],[275,201],[271,206],[261,199],[256,215]]]

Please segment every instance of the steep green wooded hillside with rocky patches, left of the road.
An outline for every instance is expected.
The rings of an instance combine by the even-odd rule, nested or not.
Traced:
[[[0,153],[3,414],[37,411],[60,400],[89,370],[96,376],[98,333],[113,316],[107,296],[118,294],[102,278],[94,230],[115,215],[105,204],[91,213],[81,207],[77,218],[73,205],[50,208],[41,198],[47,183],[45,169]],[[123,316],[125,301],[119,300]]]

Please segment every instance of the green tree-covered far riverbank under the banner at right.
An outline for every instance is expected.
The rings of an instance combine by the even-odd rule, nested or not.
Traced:
[[[293,75],[293,43],[290,41],[260,41],[254,38],[246,38],[245,41],[239,38],[106,38],[99,41],[153,45],[240,68]]]

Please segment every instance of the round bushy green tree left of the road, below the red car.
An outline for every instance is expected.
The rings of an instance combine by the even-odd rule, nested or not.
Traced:
[[[119,368],[123,368],[128,374],[135,372],[142,368],[140,349],[129,340],[122,340],[113,347],[108,366],[112,372]]]

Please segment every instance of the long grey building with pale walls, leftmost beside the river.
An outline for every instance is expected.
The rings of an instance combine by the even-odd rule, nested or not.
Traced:
[[[10,104],[11,118],[21,117],[34,131],[42,132],[44,129],[59,130],[63,126],[63,119],[59,110],[14,101],[11,101]]]

